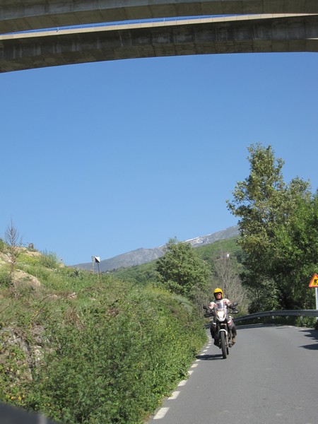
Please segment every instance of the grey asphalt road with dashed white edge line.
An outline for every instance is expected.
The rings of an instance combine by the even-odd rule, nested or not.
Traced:
[[[317,424],[318,331],[237,326],[223,360],[208,345],[150,424]]]

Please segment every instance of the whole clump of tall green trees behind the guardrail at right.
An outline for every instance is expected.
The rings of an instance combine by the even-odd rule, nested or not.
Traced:
[[[254,290],[252,310],[312,307],[308,288],[318,266],[318,199],[309,182],[283,180],[271,146],[249,146],[250,174],[237,182],[228,208],[239,218],[245,254],[242,282]]]

